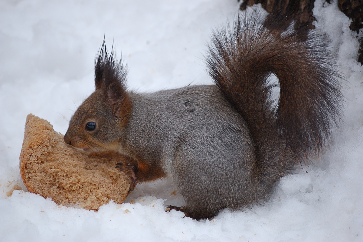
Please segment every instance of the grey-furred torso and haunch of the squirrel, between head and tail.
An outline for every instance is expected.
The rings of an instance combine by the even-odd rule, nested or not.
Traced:
[[[188,206],[238,208],[253,172],[246,123],[214,86],[130,94],[132,111],[121,152],[161,163]],[[244,178],[244,179],[241,179]],[[212,193],[211,193],[212,192]]]

